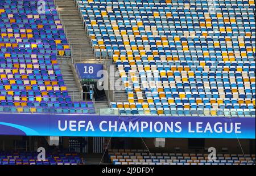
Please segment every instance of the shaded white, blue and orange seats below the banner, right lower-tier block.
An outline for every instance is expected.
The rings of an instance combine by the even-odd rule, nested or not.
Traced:
[[[110,149],[114,165],[255,165],[255,154],[218,153],[215,161],[208,153],[149,153],[143,149]]]

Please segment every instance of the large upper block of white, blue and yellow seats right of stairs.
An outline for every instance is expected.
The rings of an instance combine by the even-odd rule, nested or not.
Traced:
[[[76,1],[121,114],[255,116],[254,1]]]

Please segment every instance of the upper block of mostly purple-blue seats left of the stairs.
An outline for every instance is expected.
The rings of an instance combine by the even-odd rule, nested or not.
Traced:
[[[52,0],[0,1],[0,112],[94,113],[92,102],[72,102],[57,55],[71,50]]]

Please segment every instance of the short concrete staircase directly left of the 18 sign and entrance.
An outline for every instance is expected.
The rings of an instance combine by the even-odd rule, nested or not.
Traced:
[[[59,62],[61,74],[63,75],[63,80],[67,86],[68,95],[71,96],[73,101],[82,101],[81,96],[81,84],[76,75],[75,70],[67,62]]]

